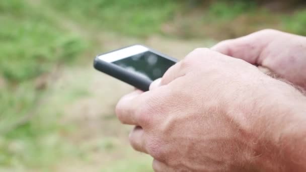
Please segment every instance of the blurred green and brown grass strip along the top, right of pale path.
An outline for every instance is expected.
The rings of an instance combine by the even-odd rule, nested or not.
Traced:
[[[163,34],[180,38],[228,39],[264,28],[305,35],[303,8],[272,12],[256,1],[47,1],[57,12],[96,31],[129,36]],[[305,8],[304,8],[305,9]],[[88,20],[90,19],[90,20]],[[170,31],[167,27],[170,26]]]

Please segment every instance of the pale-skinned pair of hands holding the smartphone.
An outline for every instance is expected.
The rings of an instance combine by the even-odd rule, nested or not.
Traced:
[[[124,96],[117,117],[155,171],[306,171],[306,97],[255,66],[305,88],[305,46],[264,30],[196,49]]]

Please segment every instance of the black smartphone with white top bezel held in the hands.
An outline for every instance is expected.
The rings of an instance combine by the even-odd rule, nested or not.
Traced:
[[[143,45],[132,45],[98,55],[94,67],[137,89],[148,91],[152,81],[164,75],[177,59]]]

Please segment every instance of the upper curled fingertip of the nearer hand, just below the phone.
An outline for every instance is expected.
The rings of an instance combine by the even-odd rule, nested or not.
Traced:
[[[122,97],[116,105],[116,115],[121,123],[129,125],[139,125],[134,113],[137,106],[140,105],[138,98],[142,91],[136,90]]]

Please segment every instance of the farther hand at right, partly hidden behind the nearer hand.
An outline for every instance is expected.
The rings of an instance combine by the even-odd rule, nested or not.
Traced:
[[[222,41],[211,49],[266,67],[306,89],[306,37],[267,29]]]

